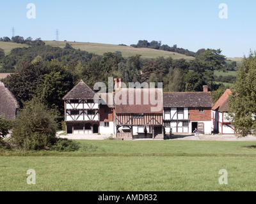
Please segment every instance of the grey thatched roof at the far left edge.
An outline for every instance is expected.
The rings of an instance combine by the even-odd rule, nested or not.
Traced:
[[[0,115],[5,115],[6,119],[15,119],[16,110],[20,108],[15,96],[0,82]]]

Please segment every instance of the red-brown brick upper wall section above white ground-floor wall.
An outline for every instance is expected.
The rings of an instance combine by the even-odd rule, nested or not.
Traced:
[[[200,108],[189,108],[190,121],[211,121],[211,108],[204,108],[204,113],[199,112]]]

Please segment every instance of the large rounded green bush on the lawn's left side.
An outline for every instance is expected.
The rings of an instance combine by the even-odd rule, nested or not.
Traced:
[[[12,138],[20,149],[47,149],[57,141],[57,127],[56,113],[34,98],[20,111]]]

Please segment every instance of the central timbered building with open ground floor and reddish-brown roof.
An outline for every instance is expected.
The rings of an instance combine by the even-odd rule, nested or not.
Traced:
[[[117,138],[163,138],[162,89],[120,89],[115,94],[115,113]]]

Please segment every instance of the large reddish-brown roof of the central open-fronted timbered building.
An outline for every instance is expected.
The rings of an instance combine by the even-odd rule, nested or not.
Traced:
[[[116,113],[163,113],[163,89],[120,89],[115,108]]]

